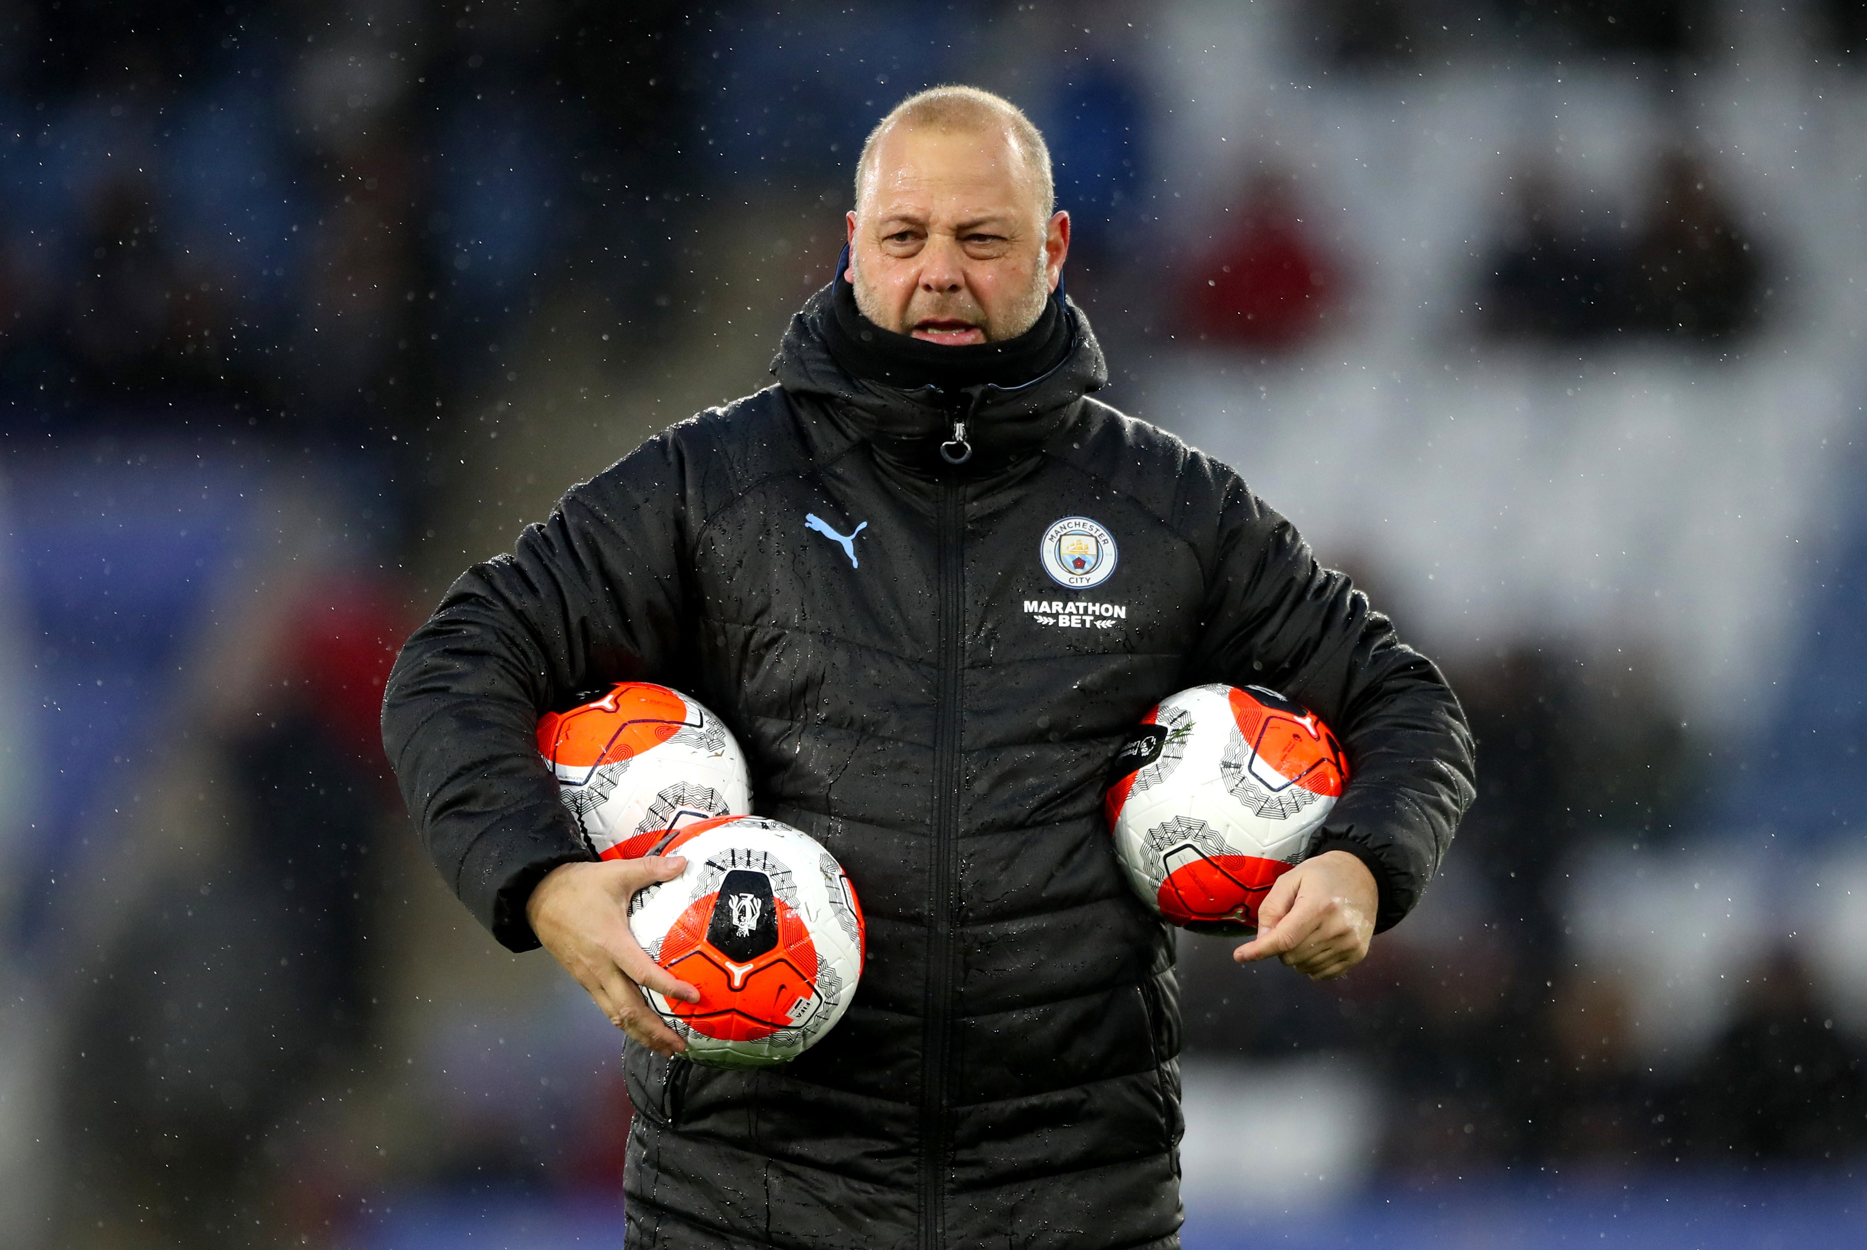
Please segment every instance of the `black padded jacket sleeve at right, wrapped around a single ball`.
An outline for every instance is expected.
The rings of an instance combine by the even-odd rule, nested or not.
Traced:
[[[1311,854],[1348,850],[1367,863],[1382,897],[1376,930],[1391,929],[1419,902],[1471,805],[1471,729],[1453,689],[1236,478],[1202,622],[1197,682],[1268,686],[1341,738],[1348,788]]]

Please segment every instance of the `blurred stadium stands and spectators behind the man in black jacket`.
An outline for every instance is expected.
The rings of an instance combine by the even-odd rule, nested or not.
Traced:
[[[1186,1244],[1867,1243],[1863,6],[0,0],[0,1244],[620,1241],[620,1039],[381,682],[764,385],[943,80],[1046,129],[1107,398],[1481,736],[1348,981],[1182,944]]]

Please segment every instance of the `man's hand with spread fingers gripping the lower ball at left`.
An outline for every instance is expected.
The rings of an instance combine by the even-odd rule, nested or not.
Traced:
[[[674,880],[683,867],[687,859],[680,856],[560,863],[545,873],[525,904],[532,932],[577,985],[590,990],[609,1022],[665,1056],[687,1050],[687,1043],[661,1022],[639,987],[683,1003],[700,1001],[700,990],[648,959],[629,932],[629,899],[642,886]]]

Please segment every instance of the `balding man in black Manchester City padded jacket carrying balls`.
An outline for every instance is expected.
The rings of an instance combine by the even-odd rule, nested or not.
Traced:
[[[889,114],[848,239],[777,387],[650,439],[456,583],[396,665],[385,742],[461,899],[635,1043],[631,1246],[1172,1246],[1172,940],[1115,861],[1115,751],[1199,682],[1337,729],[1354,781],[1238,951],[1326,979],[1436,869],[1469,734],[1230,469],[1087,398],[1105,370],[1059,295],[1070,219],[1012,105],[939,88]],[[1111,551],[1064,592],[1040,546],[1068,518]],[[1059,630],[1027,604],[1062,594],[1126,615]],[[592,863],[532,742],[624,678],[715,708],[758,811],[863,897],[857,998],[793,1063],[670,1059],[642,1003],[693,998],[625,925],[681,861]]]

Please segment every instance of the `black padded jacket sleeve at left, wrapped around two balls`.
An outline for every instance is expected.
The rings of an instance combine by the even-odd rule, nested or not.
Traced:
[[[401,648],[383,747],[422,846],[513,951],[532,886],[588,859],[538,717],[618,680],[668,680],[685,617],[683,458],[670,435],[571,488],[512,555],[469,568]]]

